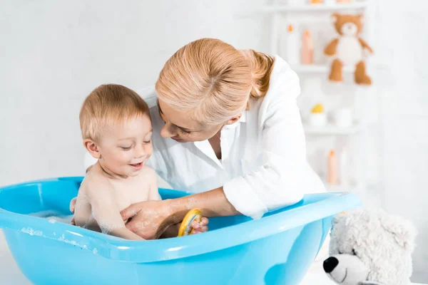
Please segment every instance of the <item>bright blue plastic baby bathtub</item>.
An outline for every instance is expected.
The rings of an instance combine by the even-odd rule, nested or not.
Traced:
[[[71,214],[82,177],[0,188],[0,228],[25,276],[36,285],[299,284],[315,259],[334,214],[360,206],[350,193],[305,195],[265,214],[210,219],[210,231],[134,242],[53,219]],[[159,190],[163,199],[188,195]]]

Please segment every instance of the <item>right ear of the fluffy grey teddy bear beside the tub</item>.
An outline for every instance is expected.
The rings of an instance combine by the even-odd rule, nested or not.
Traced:
[[[413,252],[417,229],[412,222],[401,217],[389,217],[387,220],[382,220],[382,227],[394,236],[395,242],[400,247],[407,252]]]

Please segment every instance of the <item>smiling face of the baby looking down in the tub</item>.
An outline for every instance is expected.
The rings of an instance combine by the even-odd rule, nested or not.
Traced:
[[[151,135],[151,120],[147,115],[108,126],[98,143],[103,167],[116,175],[138,175],[153,153]]]

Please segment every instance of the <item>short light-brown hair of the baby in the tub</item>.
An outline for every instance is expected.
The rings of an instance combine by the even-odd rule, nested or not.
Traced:
[[[98,140],[107,125],[140,115],[150,118],[150,110],[136,92],[118,84],[98,86],[86,97],[80,111],[82,138]]]

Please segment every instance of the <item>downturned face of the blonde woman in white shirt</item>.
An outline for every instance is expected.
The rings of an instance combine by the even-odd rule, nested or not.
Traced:
[[[197,142],[208,140],[218,133],[223,128],[223,125],[235,123],[240,118],[232,118],[220,125],[203,127],[195,120],[190,119],[190,113],[174,110],[162,100],[158,100],[159,115],[165,122],[161,130],[162,138],[172,138],[177,142]]]

